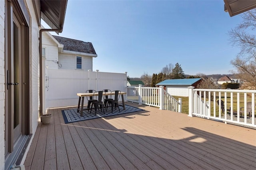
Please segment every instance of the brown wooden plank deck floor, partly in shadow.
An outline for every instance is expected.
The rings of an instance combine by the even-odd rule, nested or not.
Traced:
[[[40,123],[26,170],[256,169],[256,130],[132,104],[145,111]]]

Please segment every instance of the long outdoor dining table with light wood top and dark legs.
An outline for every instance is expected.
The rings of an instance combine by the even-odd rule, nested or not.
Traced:
[[[113,92],[112,92],[112,93],[111,93],[111,92],[105,92],[105,93],[103,93],[104,96],[109,96],[110,94],[111,94],[111,95],[114,95]],[[126,94],[126,92],[121,92],[122,103],[123,103],[123,107],[124,107],[124,110],[125,110],[124,94]],[[80,116],[83,116],[84,97],[95,96],[95,95],[98,96],[98,93],[77,93],[76,95],[79,96],[77,112],[80,111]],[[80,108],[81,98],[82,98],[82,103],[81,103],[81,108]]]

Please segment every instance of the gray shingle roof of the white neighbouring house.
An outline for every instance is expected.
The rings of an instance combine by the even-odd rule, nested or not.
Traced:
[[[77,51],[81,53],[96,54],[92,43],[84,42],[76,39],[70,39],[65,37],[59,37],[52,35],[60,44],[63,44],[64,50]]]

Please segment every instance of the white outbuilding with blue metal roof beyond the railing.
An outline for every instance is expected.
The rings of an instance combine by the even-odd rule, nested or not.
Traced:
[[[197,88],[201,81],[201,78],[171,79],[164,80],[156,86],[164,86],[164,89],[172,96],[188,97],[188,86]]]

